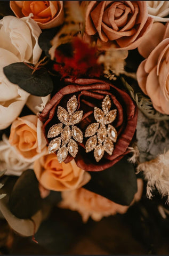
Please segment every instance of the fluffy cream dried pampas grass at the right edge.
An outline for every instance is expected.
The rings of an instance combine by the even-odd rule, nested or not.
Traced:
[[[147,196],[152,197],[152,190],[157,189],[159,194],[167,196],[169,202],[169,150],[155,159],[138,165],[137,171],[144,173],[147,181]]]

